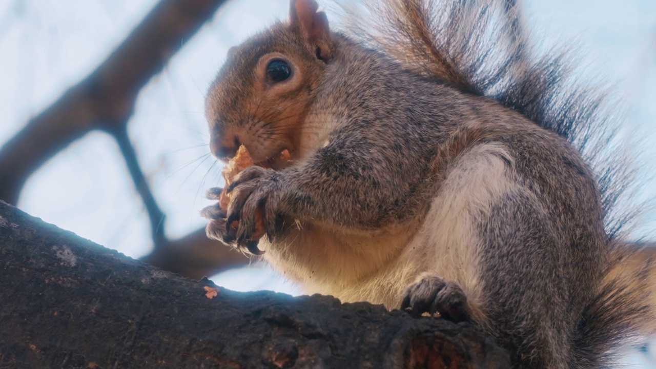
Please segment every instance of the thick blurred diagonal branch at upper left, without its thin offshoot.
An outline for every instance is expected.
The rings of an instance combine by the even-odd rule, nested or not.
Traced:
[[[0,149],[0,199],[16,204],[31,173],[89,131],[124,125],[140,89],[224,2],[160,1],[91,75]]]

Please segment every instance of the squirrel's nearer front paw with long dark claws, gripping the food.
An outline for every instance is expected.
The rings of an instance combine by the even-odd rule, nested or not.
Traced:
[[[258,166],[244,169],[228,187],[231,194],[226,211],[224,239],[258,254],[258,240],[265,232],[276,231],[276,211],[280,201],[281,174]]]

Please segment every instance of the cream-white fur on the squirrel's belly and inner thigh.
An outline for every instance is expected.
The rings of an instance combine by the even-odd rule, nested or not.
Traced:
[[[429,272],[459,283],[476,305],[482,291],[474,225],[517,186],[500,156],[512,163],[500,143],[480,144],[462,154],[422,221],[380,232],[298,223],[285,240],[262,245],[264,259],[305,292],[334,295],[342,302],[397,308],[405,288]]]

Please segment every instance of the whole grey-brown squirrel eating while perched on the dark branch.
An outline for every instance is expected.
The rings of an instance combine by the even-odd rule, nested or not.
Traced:
[[[652,316],[645,278],[613,272],[604,98],[531,55],[514,2],[365,5],[333,30],[291,0],[228,51],[210,147],[256,165],[203,210],[207,235],[308,293],[471,322],[514,368],[609,366]]]

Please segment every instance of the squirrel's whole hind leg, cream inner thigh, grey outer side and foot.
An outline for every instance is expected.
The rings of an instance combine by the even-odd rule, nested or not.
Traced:
[[[567,263],[589,251],[564,242],[548,200],[527,177],[493,143],[453,163],[408,248],[426,272],[401,306],[473,322],[517,353],[517,367],[567,368],[581,315],[571,293],[594,290],[594,282],[568,274]]]

